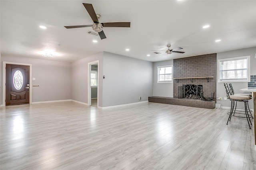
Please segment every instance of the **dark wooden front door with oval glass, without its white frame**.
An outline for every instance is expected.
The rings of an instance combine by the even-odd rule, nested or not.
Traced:
[[[6,106],[29,104],[29,66],[6,64]]]

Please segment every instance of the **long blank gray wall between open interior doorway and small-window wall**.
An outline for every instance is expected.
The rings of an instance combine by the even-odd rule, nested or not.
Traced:
[[[104,52],[103,63],[103,107],[148,101],[152,96],[152,62]]]

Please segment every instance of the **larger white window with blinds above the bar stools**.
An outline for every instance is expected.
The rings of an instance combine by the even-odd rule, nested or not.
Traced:
[[[218,82],[250,82],[250,56],[218,60]]]

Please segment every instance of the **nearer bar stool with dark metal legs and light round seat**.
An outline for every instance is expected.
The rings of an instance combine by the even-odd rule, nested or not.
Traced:
[[[227,98],[231,101],[231,107],[230,107],[230,113],[227,113],[229,115],[228,117],[228,121],[231,120],[231,117],[234,116],[234,117],[244,117],[244,116],[238,116],[238,115],[234,115],[235,113],[235,103],[236,102],[244,102],[244,112],[245,113],[239,113],[239,112],[236,112],[236,113],[239,113],[239,114],[245,114],[245,117],[247,119],[247,122],[248,122],[248,125],[249,125],[249,128],[251,129],[251,126],[250,124],[252,125],[252,122],[250,120],[250,117],[252,117],[252,115],[249,115],[248,114],[248,100],[251,100],[252,97],[250,96],[240,96],[240,95],[232,95],[229,88],[228,88],[228,84],[227,83],[224,83],[224,87],[225,87],[225,90],[226,90],[226,94],[227,94]],[[244,117],[244,118],[245,118]],[[228,121],[227,121],[227,125],[228,125]],[[250,123],[249,123],[250,121]]]

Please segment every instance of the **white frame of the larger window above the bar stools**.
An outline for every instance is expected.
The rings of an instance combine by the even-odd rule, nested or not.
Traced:
[[[235,60],[241,60],[241,59],[247,59],[247,80],[220,80],[220,62],[223,61],[235,61]],[[250,82],[250,56],[242,56],[242,57],[232,57],[227,59],[218,59],[217,62],[217,74],[218,74],[218,83],[222,82]]]

